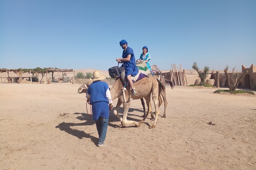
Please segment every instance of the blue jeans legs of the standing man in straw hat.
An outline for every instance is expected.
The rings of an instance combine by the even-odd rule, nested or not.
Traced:
[[[95,122],[99,134],[98,144],[104,143],[108,129],[108,119],[100,116]]]

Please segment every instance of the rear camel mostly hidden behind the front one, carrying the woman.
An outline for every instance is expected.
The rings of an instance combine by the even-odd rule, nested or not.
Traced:
[[[160,107],[161,104],[164,102],[165,111],[163,113],[163,118],[166,118],[166,108],[167,108],[168,103],[167,103],[167,100],[166,100],[165,82],[170,83],[171,89],[173,89],[174,86],[173,86],[173,83],[171,82],[171,80],[165,79],[163,77],[163,75],[154,75],[154,76],[158,80],[158,101],[159,101],[158,107]],[[163,100],[162,100],[161,96],[163,97]],[[144,103],[143,98],[141,98],[140,101],[141,101],[141,104],[142,104],[142,107],[143,107],[143,112],[144,112],[142,117],[145,117],[146,109],[145,109],[145,103]],[[151,117],[153,117],[152,112],[151,112]]]

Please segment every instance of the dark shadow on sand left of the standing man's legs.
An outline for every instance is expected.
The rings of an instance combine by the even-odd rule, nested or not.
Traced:
[[[66,133],[73,135],[79,139],[82,138],[89,138],[95,145],[98,144],[98,138],[95,136],[92,136],[93,133],[85,133],[84,131],[72,129],[73,126],[86,126],[86,125],[93,125],[95,124],[95,121],[91,118],[90,115],[84,114],[84,113],[74,113],[74,114],[82,114],[82,116],[78,116],[77,119],[79,120],[86,120],[86,122],[83,123],[66,123],[62,122],[59,123],[59,125],[55,126],[55,128],[59,128],[62,131],[65,131]],[[82,118],[83,117],[83,118]],[[94,132],[96,133],[96,132]]]

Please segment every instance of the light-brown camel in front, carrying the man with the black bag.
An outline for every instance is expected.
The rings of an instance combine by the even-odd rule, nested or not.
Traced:
[[[87,85],[89,85],[90,82],[87,82]],[[84,84],[80,88],[78,88],[78,93],[84,93],[86,90],[83,88],[87,88],[87,85]],[[150,104],[150,97],[152,94],[152,100],[155,105],[155,110],[156,110],[156,116],[155,120],[153,122],[153,125],[150,128],[155,128],[156,123],[157,123],[157,118],[159,115],[159,107],[158,107],[158,81],[153,77],[153,75],[149,75],[148,77],[144,77],[143,79],[137,81],[134,83],[134,87],[136,89],[137,95],[133,96],[131,93],[131,90],[128,86],[127,90],[124,90],[122,92],[122,89],[124,87],[124,83],[122,82],[121,78],[117,78],[116,82],[114,83],[113,87],[110,89],[111,97],[112,100],[118,98],[116,108],[114,110],[114,114],[117,116],[117,118],[121,121],[121,127],[126,127],[126,124],[134,124],[136,127],[139,127],[141,123],[145,121],[145,119],[148,116],[148,113],[151,112],[152,107]],[[128,109],[130,107],[130,100],[132,99],[141,99],[145,98],[148,111],[145,115],[145,117],[140,120],[139,122],[132,121],[132,120],[127,120],[127,113]],[[125,100],[127,99],[127,100]],[[121,117],[118,114],[119,107],[123,104],[124,106],[124,114],[123,117]]]

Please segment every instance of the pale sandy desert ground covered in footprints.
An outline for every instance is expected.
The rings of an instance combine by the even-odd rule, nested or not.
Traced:
[[[155,129],[150,119],[119,128],[112,111],[100,148],[79,86],[0,84],[0,169],[256,169],[256,96],[166,86],[167,118]],[[128,119],[141,115],[140,101],[132,101]]]

